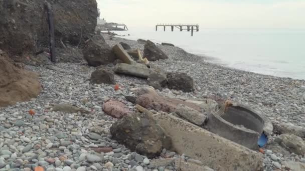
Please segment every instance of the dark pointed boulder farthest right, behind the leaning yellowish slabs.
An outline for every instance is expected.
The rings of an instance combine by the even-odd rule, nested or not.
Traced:
[[[145,43],[144,57],[150,61],[169,58],[169,56],[167,56],[153,41],[150,40],[147,40]]]

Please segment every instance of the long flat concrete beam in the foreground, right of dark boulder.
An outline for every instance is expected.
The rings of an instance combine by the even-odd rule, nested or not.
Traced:
[[[180,154],[215,170],[263,170],[262,154],[167,113],[154,115]]]

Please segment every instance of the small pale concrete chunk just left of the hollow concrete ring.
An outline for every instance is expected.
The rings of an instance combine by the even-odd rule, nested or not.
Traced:
[[[194,108],[188,107],[184,104],[178,104],[175,112],[181,117],[197,125],[203,125],[203,123],[207,119],[207,116],[204,115],[203,113],[195,110]]]

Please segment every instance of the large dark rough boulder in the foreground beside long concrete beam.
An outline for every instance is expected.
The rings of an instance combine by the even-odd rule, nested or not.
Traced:
[[[163,128],[146,112],[124,116],[111,125],[110,132],[119,143],[148,157],[159,155],[172,144]]]

